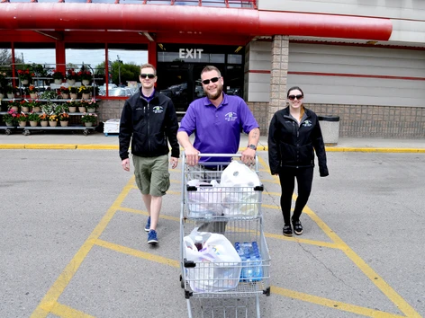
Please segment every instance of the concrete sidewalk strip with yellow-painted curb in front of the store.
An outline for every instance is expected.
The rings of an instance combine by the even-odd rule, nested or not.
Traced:
[[[242,134],[240,147],[248,145],[248,137]],[[0,149],[118,149],[117,136],[104,136],[103,133],[34,133],[23,136],[21,131],[7,136],[0,134]],[[260,137],[258,151],[267,150],[267,137]],[[403,152],[425,153],[424,139],[381,139],[381,138],[342,138],[336,146],[327,146],[327,151],[357,152]]]

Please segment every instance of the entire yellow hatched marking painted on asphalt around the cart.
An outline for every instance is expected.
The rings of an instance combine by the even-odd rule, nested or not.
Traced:
[[[267,166],[267,163],[265,163],[262,158],[259,158],[259,159],[261,164]],[[274,179],[275,180],[272,182],[278,183],[276,176],[274,176]],[[88,252],[90,252],[91,248],[94,245],[102,246],[104,248],[108,248],[116,252],[123,252],[128,255],[143,258],[149,261],[156,261],[158,263],[165,264],[167,266],[172,266],[176,268],[180,266],[179,261],[167,259],[167,258],[157,256],[148,252],[140,252],[138,250],[134,250],[126,246],[122,246],[115,243],[109,243],[99,239],[99,236],[103,233],[106,225],[109,224],[109,222],[111,221],[111,219],[113,218],[113,215],[116,213],[117,210],[148,215],[147,212],[144,212],[138,209],[121,207],[123,200],[127,197],[127,195],[132,189],[134,189],[134,176],[124,187],[124,189],[122,190],[118,198],[115,200],[115,202],[113,202],[113,205],[111,206],[111,208],[108,209],[108,211],[106,212],[102,220],[99,222],[99,224],[96,225],[95,230],[92,232],[92,234],[89,235],[86,242],[83,243],[83,245],[81,246],[77,254],[74,256],[74,258],[68,263],[67,267],[59,275],[59,278],[55,281],[52,287],[50,287],[50,290],[47,292],[47,294],[43,297],[43,299],[41,299],[41,303],[37,306],[37,308],[32,313],[32,317],[34,318],[46,317],[50,313],[58,314],[62,317],[68,317],[68,316],[75,317],[76,316],[75,313],[81,313],[81,312],[73,310],[72,308],[66,305],[60,305],[58,303],[58,298],[63,293],[65,288],[68,286],[69,281],[74,277],[75,273],[77,272],[77,269],[81,265],[82,261],[84,261],[84,259],[86,258],[86,255],[88,254]],[[270,192],[268,194],[280,196],[280,193],[276,193],[276,192]],[[294,199],[296,199],[296,196],[294,196]],[[264,205],[264,206],[268,208],[276,208],[276,206],[267,206],[267,205]],[[312,217],[312,220],[315,221],[316,224],[321,227],[321,230],[330,237],[333,243],[325,243],[325,242],[305,240],[305,239],[299,239],[299,238],[285,238],[286,240],[290,240],[290,241],[294,241],[298,243],[310,243],[314,245],[340,249],[342,252],[344,252],[348,256],[348,258],[351,261],[353,261],[357,265],[359,269],[361,269],[366,274],[367,278],[371,279],[374,282],[375,286],[378,287],[384,293],[384,295],[387,296],[393,302],[394,305],[397,305],[397,307],[402,311],[402,313],[407,314],[408,317],[420,317],[420,315],[414,311],[411,305],[407,304],[404,301],[404,299],[402,299],[402,297],[399,296],[393,290],[393,288],[391,288],[388,284],[386,284],[384,282],[384,279],[379,277],[375,273],[375,271],[366,264],[365,261],[363,261],[355,252],[353,252],[348,247],[346,243],[344,243],[339,238],[337,234],[333,233],[330,227],[326,225],[323,221],[321,221],[321,218],[319,216],[317,216],[314,212],[312,212],[312,210],[308,207],[305,208],[305,212],[306,214]],[[179,217],[175,217],[175,216],[161,216],[161,217],[167,218],[170,220],[180,221]],[[265,234],[265,235],[270,238],[282,239],[282,235],[276,235],[276,234]],[[397,315],[397,314],[384,313],[384,312],[373,310],[366,307],[341,303],[341,302],[333,301],[327,298],[322,298],[319,296],[312,296],[308,294],[299,293],[296,291],[291,291],[281,287],[272,286],[271,291],[277,295],[300,299],[306,302],[310,302],[312,304],[325,305],[331,308],[335,308],[338,310],[342,310],[342,311],[346,311],[346,312],[350,312],[354,314],[363,314],[370,317],[402,317],[401,315]],[[77,315],[77,316],[90,317],[89,315],[86,315],[84,313],[81,313],[80,315]]]

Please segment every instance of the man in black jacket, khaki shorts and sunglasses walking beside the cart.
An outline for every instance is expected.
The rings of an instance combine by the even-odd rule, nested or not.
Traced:
[[[140,66],[139,93],[124,104],[120,122],[120,157],[122,168],[130,171],[129,146],[134,164],[136,183],[148,210],[145,226],[148,243],[158,243],[157,225],[162,196],[169,188],[168,142],[171,145],[171,167],[180,155],[177,143],[178,122],[173,102],[155,91],[157,71],[154,66]]]

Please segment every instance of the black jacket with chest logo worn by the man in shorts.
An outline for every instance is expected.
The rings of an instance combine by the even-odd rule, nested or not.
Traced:
[[[131,154],[155,157],[169,153],[178,158],[180,146],[177,142],[178,122],[174,104],[167,96],[155,92],[153,99],[146,101],[139,91],[132,95],[122,109],[120,120],[120,157]]]

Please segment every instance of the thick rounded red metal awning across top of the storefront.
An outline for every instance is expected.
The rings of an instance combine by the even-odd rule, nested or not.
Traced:
[[[0,4],[0,29],[202,32],[388,40],[389,19],[143,4]]]

